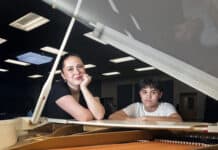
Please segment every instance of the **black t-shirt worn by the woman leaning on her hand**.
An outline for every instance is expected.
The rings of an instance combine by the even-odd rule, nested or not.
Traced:
[[[49,93],[48,99],[46,101],[42,116],[57,119],[73,119],[72,116],[70,116],[56,104],[56,100],[65,95],[71,95],[68,85],[63,80],[54,82]],[[80,95],[81,96],[79,103],[87,108],[86,102],[82,94]]]

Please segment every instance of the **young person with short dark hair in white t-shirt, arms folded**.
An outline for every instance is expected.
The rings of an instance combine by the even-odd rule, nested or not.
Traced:
[[[139,82],[141,102],[133,103],[109,116],[112,120],[141,121],[182,121],[174,106],[159,102],[162,89],[159,82],[141,80]]]

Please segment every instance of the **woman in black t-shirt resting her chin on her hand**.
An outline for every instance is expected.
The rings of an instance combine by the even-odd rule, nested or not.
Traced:
[[[68,54],[62,58],[61,65],[63,80],[52,85],[43,115],[79,121],[102,119],[105,109],[88,89],[91,77],[86,73],[81,58]]]

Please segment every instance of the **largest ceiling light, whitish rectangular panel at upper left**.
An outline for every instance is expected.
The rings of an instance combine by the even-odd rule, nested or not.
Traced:
[[[49,19],[36,13],[30,12],[23,17],[13,21],[9,25],[20,30],[30,31],[47,22],[49,22]]]

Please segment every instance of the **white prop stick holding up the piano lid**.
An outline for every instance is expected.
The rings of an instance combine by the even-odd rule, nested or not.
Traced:
[[[42,110],[43,110],[43,108],[45,106],[48,94],[49,94],[50,89],[51,89],[51,85],[52,85],[52,81],[53,81],[53,78],[54,78],[55,71],[56,71],[57,66],[59,64],[61,54],[62,54],[62,52],[63,52],[63,50],[65,48],[66,42],[67,42],[67,40],[69,38],[70,32],[71,32],[71,30],[73,28],[74,22],[76,20],[75,17],[77,16],[77,14],[79,12],[81,3],[82,3],[82,0],[77,1],[76,8],[75,8],[75,11],[74,11],[74,15],[73,15],[73,17],[72,17],[72,19],[70,21],[70,24],[68,25],[68,28],[67,28],[67,31],[65,33],[64,39],[63,39],[63,41],[61,43],[60,50],[59,50],[59,52],[57,54],[57,57],[55,59],[55,62],[53,64],[53,66],[52,66],[52,69],[51,69],[51,72],[50,72],[50,74],[48,76],[48,79],[46,80],[45,84],[43,85],[40,96],[38,98],[36,107],[35,107],[34,112],[33,112],[33,116],[31,118],[31,123],[32,124],[36,124],[36,123],[39,122],[39,118],[41,116]]]

